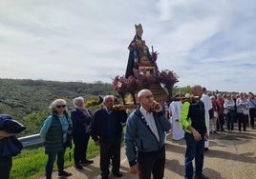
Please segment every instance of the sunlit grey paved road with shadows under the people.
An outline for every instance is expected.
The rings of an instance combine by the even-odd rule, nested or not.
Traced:
[[[164,178],[181,179],[183,176],[185,141],[174,141],[167,136],[166,165]],[[99,179],[98,157],[93,165],[82,170],[68,168],[73,176],[69,179]],[[122,179],[138,179],[131,175],[124,151],[121,150]],[[210,179],[256,179],[256,130],[247,129],[245,133],[218,133],[210,135],[210,148],[205,152],[203,172]],[[53,178],[56,177],[53,173]],[[110,179],[114,179],[110,175]]]

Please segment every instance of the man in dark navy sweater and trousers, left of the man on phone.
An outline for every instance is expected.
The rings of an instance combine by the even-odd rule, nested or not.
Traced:
[[[120,147],[122,125],[127,119],[125,110],[113,109],[114,95],[106,95],[103,99],[104,107],[97,109],[92,121],[91,135],[96,146],[100,147],[100,169],[102,179],[109,175],[110,160],[112,160],[113,175],[121,177],[120,172]]]

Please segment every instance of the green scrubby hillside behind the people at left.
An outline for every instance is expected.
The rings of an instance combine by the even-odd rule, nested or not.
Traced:
[[[96,100],[105,94],[116,94],[111,84],[0,79],[0,113],[24,123],[27,129],[22,135],[32,134],[40,129],[54,99],[66,99],[68,108],[73,109],[72,100],[77,96]]]

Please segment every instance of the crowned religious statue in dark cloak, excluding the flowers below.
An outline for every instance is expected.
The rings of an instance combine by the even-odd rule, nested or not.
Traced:
[[[125,77],[131,75],[152,75],[158,70],[157,57],[158,53],[153,50],[149,52],[144,40],[142,40],[143,29],[141,24],[135,25],[136,35],[130,43],[128,50],[130,50],[128,64],[125,72]]]

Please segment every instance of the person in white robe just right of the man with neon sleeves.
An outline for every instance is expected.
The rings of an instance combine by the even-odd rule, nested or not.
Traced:
[[[212,109],[212,103],[211,103],[210,97],[207,94],[206,88],[204,87],[203,87],[203,94],[202,94],[201,100],[203,101],[203,105],[204,105],[205,125],[207,128],[207,133],[209,135],[210,134],[210,110]],[[209,148],[209,141],[205,140],[204,149],[208,150],[208,148]]]

